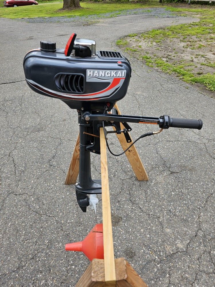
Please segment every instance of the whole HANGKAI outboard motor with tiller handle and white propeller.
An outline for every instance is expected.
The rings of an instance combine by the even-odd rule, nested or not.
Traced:
[[[202,120],[175,119],[168,115],[119,115],[114,104],[126,95],[131,77],[129,61],[120,52],[95,51],[93,40],[75,38],[73,33],[65,49],[56,49],[53,42],[40,42],[40,49],[31,50],[25,56],[24,72],[32,90],[58,98],[77,109],[80,156],[79,182],[75,191],[81,210],[86,212],[89,205],[96,211],[96,194],[101,193],[101,180],[92,180],[90,168],[90,152],[100,154],[100,128],[103,128],[108,150],[112,155],[120,156],[138,139],[163,129],[201,129],[203,123]],[[145,133],[132,142],[128,122],[159,125],[160,130]],[[107,131],[105,127],[114,127],[114,131]],[[124,133],[127,143],[132,142],[120,154],[114,154],[107,143],[106,135],[113,132]]]

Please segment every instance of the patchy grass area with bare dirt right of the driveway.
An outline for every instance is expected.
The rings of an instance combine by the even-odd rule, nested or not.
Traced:
[[[189,6],[190,7],[190,6]],[[131,34],[117,44],[149,67],[175,74],[187,83],[215,91],[215,9],[167,7],[199,22]]]

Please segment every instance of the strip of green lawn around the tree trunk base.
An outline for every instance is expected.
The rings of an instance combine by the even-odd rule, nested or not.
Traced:
[[[20,6],[17,8],[10,7],[0,9],[0,17],[3,18],[31,18],[31,17],[54,17],[54,16],[85,16],[92,14],[108,13],[112,11],[123,11],[126,9],[141,8],[142,4],[127,4],[127,3],[85,3],[81,2],[81,7],[84,9],[58,11],[63,7],[63,3],[43,4]]]

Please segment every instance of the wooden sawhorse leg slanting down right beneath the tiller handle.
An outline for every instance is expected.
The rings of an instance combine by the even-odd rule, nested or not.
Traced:
[[[114,107],[118,111],[118,114],[121,115],[117,104],[115,104]],[[124,129],[124,126],[122,125],[122,123],[120,123],[120,127],[121,127],[121,130]],[[119,142],[120,142],[123,150],[126,150],[126,148],[128,148],[133,142],[133,141],[131,141],[130,143],[127,143],[123,133],[121,133],[119,135],[116,134],[116,135],[117,135],[117,137],[119,139]],[[130,133],[129,133],[129,135],[130,135]],[[139,181],[148,181],[147,172],[146,172],[146,170],[145,170],[145,168],[144,168],[144,166],[142,164],[142,161],[140,159],[140,156],[139,156],[135,146],[133,145],[125,154],[126,154],[128,160],[129,160],[129,162],[130,162],[130,164],[132,166],[132,169],[134,170],[134,173],[136,175],[137,180],[139,180]]]

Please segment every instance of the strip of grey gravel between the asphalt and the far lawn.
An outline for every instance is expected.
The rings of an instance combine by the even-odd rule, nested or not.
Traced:
[[[19,19],[19,21],[26,21],[28,23],[60,23],[60,22],[79,22],[80,24],[95,24],[95,22],[91,23],[94,20],[102,19],[102,18],[112,18],[126,15],[148,15],[159,18],[173,18],[177,17],[171,11],[166,10],[164,8],[150,8],[150,9],[129,9],[123,11],[113,11],[109,13],[102,14],[93,14],[87,16],[58,16],[58,17],[50,17],[50,18],[28,18],[28,19]]]

